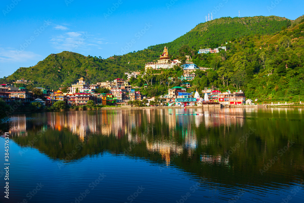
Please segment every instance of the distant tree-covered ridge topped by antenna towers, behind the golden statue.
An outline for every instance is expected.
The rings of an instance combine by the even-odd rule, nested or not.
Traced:
[[[143,68],[147,61],[156,61],[162,54],[164,46],[168,47],[171,58],[176,58],[183,45],[188,45],[192,54],[201,48],[216,48],[232,38],[250,35],[273,35],[281,31],[283,26],[288,27],[291,21],[278,16],[255,16],[255,17],[222,17],[206,23],[200,23],[185,35],[176,40],[147,47],[142,51],[130,52],[123,56],[114,56],[117,63],[125,66],[130,62],[133,66]],[[191,54],[190,52],[187,54]],[[113,59],[109,58],[111,62]]]

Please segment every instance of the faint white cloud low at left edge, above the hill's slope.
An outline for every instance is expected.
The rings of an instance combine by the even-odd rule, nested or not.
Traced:
[[[42,56],[32,51],[19,51],[13,48],[0,47],[0,62],[24,62],[30,60],[39,60]]]

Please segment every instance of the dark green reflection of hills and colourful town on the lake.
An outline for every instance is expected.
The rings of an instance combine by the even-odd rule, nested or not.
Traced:
[[[13,139],[24,146],[37,137],[34,147],[54,159],[77,160],[106,150],[166,162],[226,184],[286,183],[302,177],[304,170],[304,121],[297,109],[100,110],[31,116],[13,118],[18,126],[10,131]],[[240,142],[250,129],[256,129],[255,134]],[[296,144],[261,176],[263,164],[288,140]],[[226,156],[237,143],[240,147]]]

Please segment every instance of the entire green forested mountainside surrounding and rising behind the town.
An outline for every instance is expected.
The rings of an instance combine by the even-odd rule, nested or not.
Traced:
[[[2,80],[24,78],[34,81],[35,86],[49,89],[70,85],[81,76],[91,84],[113,80],[124,77],[126,71],[143,70],[144,64],[156,61],[167,46],[171,59],[191,55],[196,65],[211,68],[207,72],[196,72],[196,78],[190,81],[190,92],[204,87],[222,91],[242,89],[251,99],[296,101],[298,95],[304,94],[303,21],[303,16],[293,21],[277,16],[225,17],[200,23],[172,42],[105,60],[66,51],[51,54],[37,65],[19,68]],[[200,48],[215,48],[225,42],[227,52],[197,54]],[[180,85],[177,79],[182,74],[180,68],[162,73],[145,75],[131,83],[142,86],[152,81],[142,90],[148,96],[164,94],[168,87]]]

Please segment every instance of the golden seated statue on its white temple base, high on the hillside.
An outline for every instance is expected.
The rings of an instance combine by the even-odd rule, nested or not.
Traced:
[[[174,65],[178,65],[180,63],[180,61],[173,60],[171,61],[169,59],[169,53],[168,53],[168,48],[164,47],[164,52],[162,55],[160,55],[159,60],[157,62],[150,62],[150,63],[146,63],[145,68],[152,68],[152,69],[169,69],[169,68],[173,68]]]

